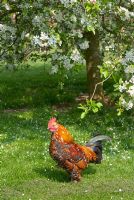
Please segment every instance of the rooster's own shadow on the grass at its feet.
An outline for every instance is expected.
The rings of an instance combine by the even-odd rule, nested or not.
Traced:
[[[69,174],[61,168],[35,168],[34,171],[39,174],[39,176],[46,177],[47,179],[52,181],[70,182],[71,180]],[[95,173],[96,170],[92,166],[90,166],[83,171],[82,176],[84,176],[84,174]]]

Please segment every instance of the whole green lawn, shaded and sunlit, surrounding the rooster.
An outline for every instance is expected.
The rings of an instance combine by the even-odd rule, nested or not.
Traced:
[[[114,108],[105,108],[81,120],[74,99],[86,91],[84,71],[68,74],[64,90],[57,79],[43,64],[0,73],[0,199],[134,199],[133,113],[117,117]],[[80,144],[95,132],[112,137],[102,164],[91,164],[79,183],[70,182],[49,156],[53,114]]]

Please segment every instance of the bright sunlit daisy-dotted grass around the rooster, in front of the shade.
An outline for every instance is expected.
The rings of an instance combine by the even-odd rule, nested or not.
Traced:
[[[51,108],[44,107],[1,115],[2,198],[133,199],[133,150],[129,149],[129,140],[122,140],[122,135],[125,137],[126,129],[131,126],[133,119],[127,121],[126,116],[123,116],[123,123],[120,124],[120,119],[117,118],[112,122],[111,129],[111,119],[107,119],[109,111],[105,115],[94,115],[84,121],[78,118],[79,112],[75,108],[58,114],[59,121],[80,144],[88,141],[97,128],[112,137],[112,143],[104,145],[102,164],[91,164],[83,172],[82,181],[73,184],[70,183],[68,174],[50,158],[50,133],[47,130],[49,112]],[[97,123],[100,123],[99,127]],[[131,128],[127,131],[131,135]]]

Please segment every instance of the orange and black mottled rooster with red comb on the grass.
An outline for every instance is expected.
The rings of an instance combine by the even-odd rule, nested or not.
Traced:
[[[49,146],[51,157],[70,174],[71,180],[76,182],[81,180],[81,172],[89,163],[101,163],[102,141],[110,140],[108,136],[99,135],[85,146],[79,145],[56,118],[49,120],[48,130],[52,133]]]

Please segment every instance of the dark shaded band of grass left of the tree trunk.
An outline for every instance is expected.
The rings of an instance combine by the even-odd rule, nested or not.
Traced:
[[[0,110],[72,103],[80,92],[86,90],[83,73],[70,72],[66,79],[59,73],[50,75],[49,72],[50,67],[43,64],[30,69],[1,73]],[[60,83],[64,83],[64,90]]]

